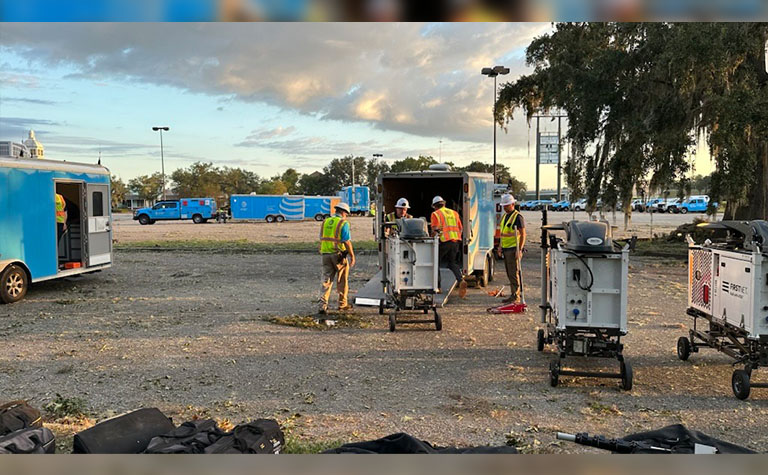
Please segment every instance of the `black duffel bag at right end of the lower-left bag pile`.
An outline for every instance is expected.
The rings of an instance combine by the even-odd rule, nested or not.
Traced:
[[[206,454],[279,454],[285,445],[280,424],[272,419],[256,419],[240,424],[205,449]]]

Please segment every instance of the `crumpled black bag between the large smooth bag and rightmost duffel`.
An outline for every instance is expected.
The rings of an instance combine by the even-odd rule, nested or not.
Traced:
[[[212,419],[185,422],[167,434],[153,437],[147,454],[202,454],[203,451],[229,434]]]

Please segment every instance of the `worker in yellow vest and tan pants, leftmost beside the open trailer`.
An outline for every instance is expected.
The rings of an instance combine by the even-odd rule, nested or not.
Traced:
[[[347,302],[349,283],[349,268],[355,266],[355,251],[352,248],[352,236],[349,230],[349,205],[340,202],[334,208],[334,214],[323,221],[320,228],[320,254],[323,264],[323,294],[320,297],[320,310],[325,315],[328,312],[328,301],[331,288],[336,280],[336,291],[339,293],[339,310],[352,308]],[[349,261],[347,261],[349,257]]]

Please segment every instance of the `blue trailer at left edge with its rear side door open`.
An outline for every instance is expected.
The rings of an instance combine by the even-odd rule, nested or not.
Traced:
[[[56,194],[66,227],[56,224]],[[31,283],[112,265],[109,170],[56,160],[0,157],[0,301]]]

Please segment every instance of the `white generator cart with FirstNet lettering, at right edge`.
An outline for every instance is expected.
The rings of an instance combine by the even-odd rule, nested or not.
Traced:
[[[688,240],[688,310],[693,327],[677,340],[677,356],[708,347],[734,359],[733,394],[747,399],[752,371],[768,365],[768,222],[720,221],[700,225],[720,236]]]

